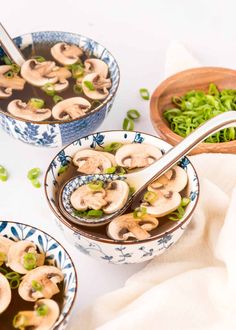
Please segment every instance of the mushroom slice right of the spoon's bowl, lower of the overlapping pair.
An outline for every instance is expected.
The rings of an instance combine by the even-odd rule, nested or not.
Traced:
[[[157,192],[156,192],[157,193]],[[141,207],[146,208],[146,212],[155,217],[164,217],[175,211],[181,204],[181,195],[173,191],[159,191],[158,197],[152,204],[143,203]]]

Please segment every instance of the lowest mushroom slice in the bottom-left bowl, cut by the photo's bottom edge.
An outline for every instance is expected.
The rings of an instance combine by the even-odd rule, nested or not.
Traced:
[[[45,315],[40,315],[44,310]],[[30,327],[32,330],[50,330],[60,315],[60,309],[56,301],[51,299],[40,299],[34,306],[34,311],[21,311],[14,318],[16,329]]]

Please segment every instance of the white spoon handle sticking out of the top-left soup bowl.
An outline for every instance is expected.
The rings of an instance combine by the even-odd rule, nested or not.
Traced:
[[[10,59],[21,66],[25,62],[25,58],[21,51],[17,48],[2,23],[0,23],[0,43],[4,52],[10,57]]]

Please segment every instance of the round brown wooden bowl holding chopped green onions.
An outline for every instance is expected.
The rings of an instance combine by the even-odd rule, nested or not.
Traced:
[[[190,90],[207,91],[210,83],[222,89],[236,89],[236,70],[201,67],[179,72],[164,80],[154,91],[150,102],[150,115],[154,129],[160,137],[172,145],[176,145],[183,138],[175,134],[169,123],[163,117],[163,112],[173,108],[173,96],[183,96]],[[236,141],[220,143],[201,143],[191,155],[199,153],[236,153]]]

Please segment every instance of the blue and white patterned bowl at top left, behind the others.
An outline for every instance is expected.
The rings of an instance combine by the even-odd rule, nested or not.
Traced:
[[[14,39],[21,50],[30,51],[37,44],[45,43],[48,47],[56,42],[73,43],[84,49],[90,56],[102,59],[109,67],[112,87],[109,96],[96,109],[84,115],[80,119],[67,122],[30,122],[28,120],[15,118],[0,108],[0,127],[8,134],[23,142],[36,146],[60,147],[72,142],[86,134],[94,132],[103,122],[111,110],[119,86],[120,71],[115,58],[98,42],[69,32],[33,32]],[[0,48],[0,56],[4,52]]]

